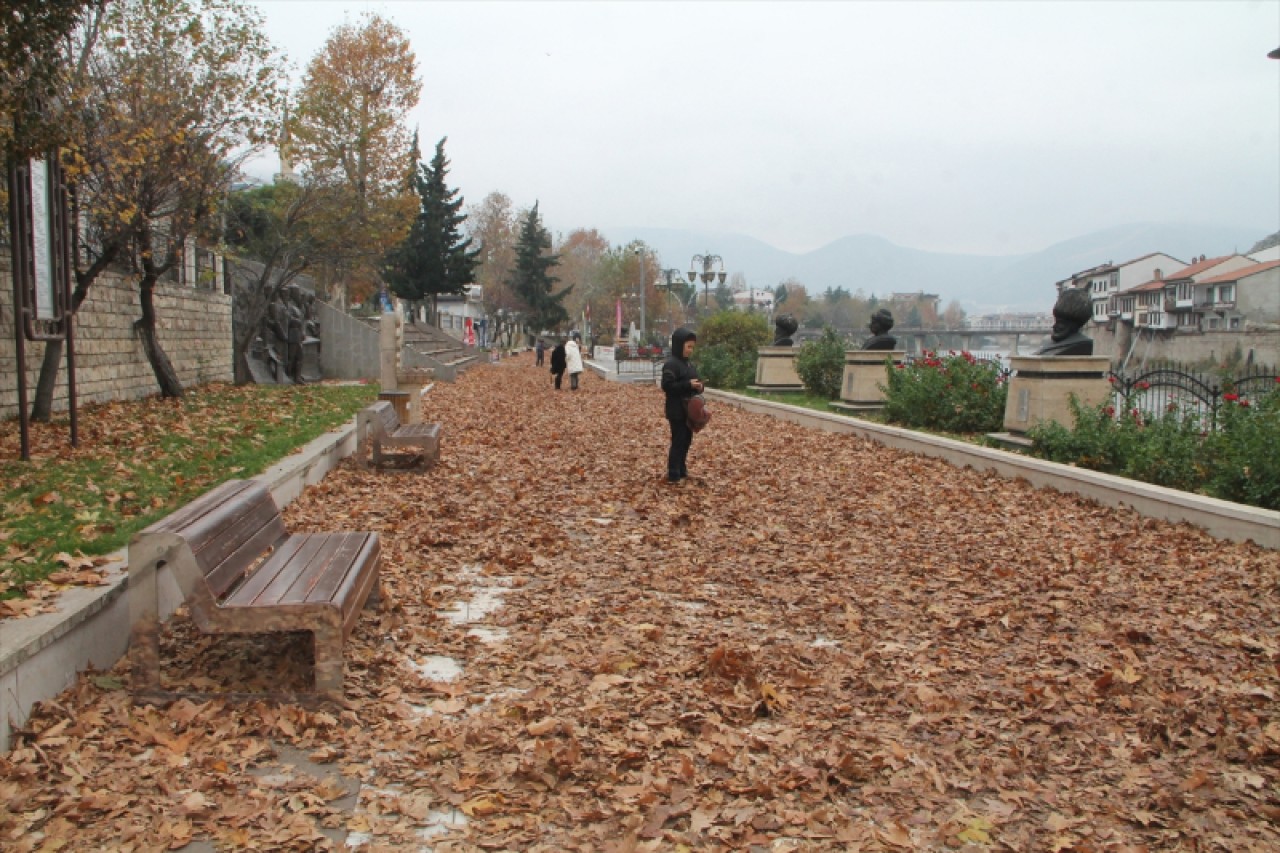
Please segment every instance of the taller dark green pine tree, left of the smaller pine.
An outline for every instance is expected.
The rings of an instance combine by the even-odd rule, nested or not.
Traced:
[[[444,182],[449,173],[444,158],[447,140],[436,143],[430,164],[419,165],[413,175],[413,191],[421,202],[417,218],[408,237],[388,252],[383,265],[383,278],[396,296],[411,302],[431,298],[433,318],[436,296],[463,293],[475,282],[480,254],[471,248],[470,238],[462,237],[461,227],[467,219],[461,213],[462,197]]]

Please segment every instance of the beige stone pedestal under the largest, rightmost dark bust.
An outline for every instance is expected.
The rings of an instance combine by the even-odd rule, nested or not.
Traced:
[[[1070,397],[1084,406],[1096,406],[1111,397],[1107,356],[1014,356],[1009,366],[1009,402],[1005,429],[1025,433],[1038,423],[1056,420],[1070,426]]]

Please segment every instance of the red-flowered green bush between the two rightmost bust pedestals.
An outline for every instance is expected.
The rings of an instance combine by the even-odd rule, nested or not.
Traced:
[[[968,352],[923,357],[887,370],[884,418],[948,433],[986,433],[1005,420],[1007,383],[1000,365]]]

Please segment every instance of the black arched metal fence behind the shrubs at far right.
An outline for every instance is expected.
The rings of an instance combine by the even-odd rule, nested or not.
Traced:
[[[1198,418],[1206,429],[1217,425],[1224,403],[1252,403],[1280,388],[1276,369],[1261,365],[1231,377],[1165,362],[1132,374],[1112,371],[1110,379],[1117,411],[1138,410],[1143,418],[1176,411]]]

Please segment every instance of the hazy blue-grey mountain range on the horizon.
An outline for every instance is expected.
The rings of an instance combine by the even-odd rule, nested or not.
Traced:
[[[643,240],[664,265],[686,274],[690,257],[710,251],[724,259],[730,275],[742,273],[749,287],[772,289],[795,278],[810,296],[835,287],[879,296],[924,291],[940,295],[943,305],[957,300],[970,314],[1047,311],[1053,305],[1053,283],[1083,269],[1151,252],[1165,252],[1187,263],[1199,255],[1247,252],[1272,231],[1274,225],[1133,224],[1097,231],[1028,255],[951,255],[905,248],[870,234],[842,237],[812,252],[795,254],[745,234],[604,229],[614,242]]]

